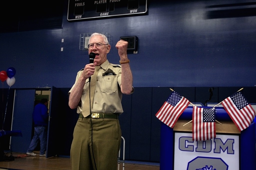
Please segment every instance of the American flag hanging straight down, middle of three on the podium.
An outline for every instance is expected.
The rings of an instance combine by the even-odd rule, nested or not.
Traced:
[[[216,137],[215,114],[215,108],[193,107],[193,140],[209,140]]]

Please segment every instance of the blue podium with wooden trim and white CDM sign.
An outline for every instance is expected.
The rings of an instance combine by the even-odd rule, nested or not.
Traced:
[[[204,107],[211,108],[211,107]],[[193,107],[189,106],[173,128],[161,122],[160,170],[255,168],[255,123],[238,130],[223,107],[215,107],[216,138],[207,141],[192,140]]]

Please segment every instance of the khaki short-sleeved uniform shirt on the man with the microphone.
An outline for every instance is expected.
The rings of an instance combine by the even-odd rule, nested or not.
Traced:
[[[77,73],[76,82],[81,76],[82,71],[83,69]],[[121,104],[122,92],[120,89],[121,71],[121,65],[111,64],[108,60],[101,64],[101,68],[99,69],[97,75],[97,82],[94,91],[93,104],[91,106],[91,113],[123,113],[123,108]],[[106,75],[109,73],[113,75]],[[86,83],[84,84],[81,102],[77,106],[77,113],[79,114],[82,113],[85,96],[87,94],[89,95],[88,80],[89,79],[87,79]],[[72,92],[73,87],[70,89],[69,93]]]

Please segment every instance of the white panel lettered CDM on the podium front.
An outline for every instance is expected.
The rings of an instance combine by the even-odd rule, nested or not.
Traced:
[[[174,170],[238,170],[239,136],[217,134],[216,138],[194,141],[189,132],[174,134]]]

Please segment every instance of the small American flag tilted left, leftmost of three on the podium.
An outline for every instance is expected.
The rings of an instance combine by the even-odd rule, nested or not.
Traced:
[[[173,91],[156,113],[156,117],[167,126],[173,128],[189,103],[186,98]]]

